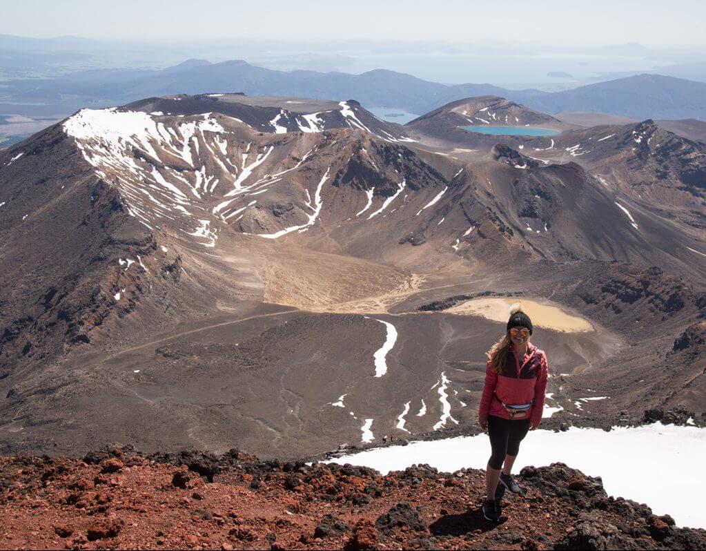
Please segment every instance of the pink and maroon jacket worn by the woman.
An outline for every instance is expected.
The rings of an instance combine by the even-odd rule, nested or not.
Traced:
[[[520,365],[514,352],[510,350],[505,363],[505,374],[497,374],[491,369],[490,360],[486,365],[486,381],[481,397],[479,415],[495,415],[510,419],[510,414],[503,407],[508,405],[522,405],[532,403],[530,408],[530,422],[539,425],[542,421],[544,409],[544,393],[549,367],[546,364],[546,354],[536,346],[530,344],[527,348],[525,361]],[[527,419],[526,416],[515,416],[515,419]]]

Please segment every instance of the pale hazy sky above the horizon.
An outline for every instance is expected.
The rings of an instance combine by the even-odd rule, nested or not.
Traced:
[[[706,45],[703,0],[2,1],[0,34],[130,40],[570,40]]]

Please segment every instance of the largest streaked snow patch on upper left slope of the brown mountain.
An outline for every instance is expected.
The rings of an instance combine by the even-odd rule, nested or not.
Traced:
[[[81,109],[63,129],[97,176],[119,189],[131,216],[150,229],[167,220],[178,222],[187,235],[203,237],[202,244],[213,247],[215,232],[195,213],[203,207],[193,203],[212,193],[218,182],[201,163],[201,146],[224,169],[220,176],[230,176],[220,158],[227,159],[221,141],[227,132],[210,113],[162,122],[144,112]]]

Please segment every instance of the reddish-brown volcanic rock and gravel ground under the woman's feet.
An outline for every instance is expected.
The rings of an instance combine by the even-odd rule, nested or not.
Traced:
[[[201,475],[201,476],[200,476]],[[4,547],[66,549],[705,549],[706,531],[608,497],[562,463],[483,519],[484,473],[261,463],[229,451],[0,459]]]

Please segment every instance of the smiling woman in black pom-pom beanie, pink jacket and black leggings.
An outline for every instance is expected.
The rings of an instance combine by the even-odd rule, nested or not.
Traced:
[[[505,490],[522,491],[510,471],[520,442],[542,420],[548,367],[544,352],[530,344],[531,335],[530,316],[518,308],[510,314],[503,338],[488,352],[478,422],[488,429],[492,450],[483,504],[483,515],[489,521],[500,520],[498,502]],[[496,490],[501,490],[497,500]]]

